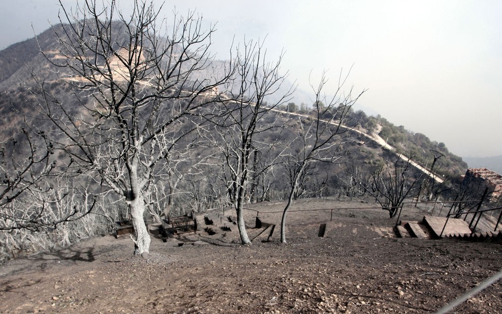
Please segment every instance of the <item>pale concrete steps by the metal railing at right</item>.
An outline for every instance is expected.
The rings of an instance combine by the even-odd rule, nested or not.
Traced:
[[[394,230],[398,238],[446,238],[502,242],[502,230],[497,230],[496,232],[475,230],[476,232],[472,232],[467,222],[455,218],[448,219],[446,226],[445,223],[445,217],[424,216],[421,221],[400,221]]]

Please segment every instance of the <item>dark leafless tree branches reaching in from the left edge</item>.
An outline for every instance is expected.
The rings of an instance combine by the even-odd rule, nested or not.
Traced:
[[[38,231],[56,228],[92,210],[54,211],[52,204],[66,195],[51,197],[58,181],[54,146],[45,134],[27,129],[0,147],[0,230]],[[33,200],[36,201],[33,201]]]

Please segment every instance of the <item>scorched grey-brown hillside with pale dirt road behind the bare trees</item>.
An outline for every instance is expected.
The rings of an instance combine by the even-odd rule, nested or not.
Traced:
[[[120,35],[117,36],[120,37]],[[32,41],[29,40],[28,42]],[[40,35],[39,42],[43,43],[44,53],[47,58],[58,62],[63,60],[63,56],[58,52],[54,35],[51,35],[50,31]],[[120,50],[124,49],[123,47],[118,46],[118,48],[115,51],[116,54],[112,55],[113,58],[123,52],[123,50]],[[145,152],[141,155],[141,158],[144,158],[141,167],[145,169],[145,173],[148,175],[155,171],[155,180],[152,181],[151,185],[145,186],[144,191],[141,191],[141,193],[144,192],[145,194],[144,200],[148,206],[143,219],[160,221],[163,216],[178,216],[191,211],[202,212],[208,208],[215,208],[230,202],[233,196],[231,194],[233,188],[229,187],[229,182],[235,181],[229,180],[229,170],[222,166],[227,156],[224,155],[225,151],[221,150],[221,147],[225,142],[231,141],[225,135],[229,134],[228,129],[235,130],[233,128],[235,124],[230,125],[228,129],[225,129],[226,126],[223,124],[213,123],[208,125],[209,119],[207,117],[217,113],[218,110],[220,110],[219,115],[214,115],[222,119],[226,119],[227,116],[225,115],[228,113],[238,112],[239,110],[246,115],[252,106],[246,103],[242,106],[240,100],[237,101],[229,97],[228,90],[227,94],[221,95],[215,93],[214,90],[206,90],[204,93],[198,94],[194,82],[200,81],[197,81],[196,78],[191,78],[193,80],[187,79],[181,83],[173,79],[174,84],[179,84],[164,90],[166,93],[162,94],[162,97],[165,98],[162,99],[165,100],[158,102],[158,106],[156,102],[155,114],[148,113],[148,109],[153,107],[153,102],[141,102],[137,107],[134,107],[135,110],[130,110],[129,103],[123,102],[125,106],[120,108],[120,114],[123,113],[124,116],[115,119],[110,117],[112,110],[108,111],[109,108],[102,106],[102,103],[94,98],[95,95],[102,95],[103,98],[106,98],[107,92],[103,94],[96,92],[91,95],[86,93],[86,90],[72,90],[70,83],[81,84],[83,82],[82,77],[76,76],[75,73],[65,72],[66,68],[64,67],[55,68],[40,53],[33,50],[27,52],[30,49],[28,44],[13,45],[8,49],[9,53],[5,54],[5,56],[8,56],[6,60],[12,60],[12,56],[18,55],[18,59],[22,60],[22,62],[15,63],[19,68],[9,69],[3,77],[3,81],[0,82],[0,93],[2,95],[0,106],[4,119],[1,130],[3,137],[10,141],[11,144],[9,145],[14,145],[17,141],[16,132],[19,132],[19,128],[23,126],[31,132],[33,143],[36,144],[38,144],[37,140],[42,141],[42,136],[52,134],[51,140],[53,142],[51,144],[54,145],[51,147],[56,146],[56,148],[51,149],[51,154],[48,157],[49,164],[56,165],[54,168],[57,168],[57,171],[66,174],[71,173],[71,178],[65,178],[68,179],[67,183],[60,185],[57,181],[59,178],[49,177],[45,182],[46,189],[41,191],[53,193],[52,191],[57,190],[56,192],[59,192],[63,190],[63,187],[66,187],[68,191],[79,189],[81,191],[80,193],[72,192],[77,195],[76,200],[71,197],[64,199],[65,201],[68,200],[68,202],[71,201],[71,203],[57,201],[58,205],[57,208],[55,206],[54,210],[60,211],[60,215],[71,211],[72,208],[80,211],[83,208],[87,209],[89,198],[95,197],[96,194],[101,193],[104,197],[99,199],[96,205],[99,208],[99,215],[92,215],[89,220],[84,222],[75,221],[65,224],[64,228],[43,230],[40,233],[32,234],[26,231],[30,236],[37,238],[37,241],[30,244],[22,242],[22,232],[21,236],[17,233],[15,236],[9,235],[9,240],[5,240],[5,246],[2,247],[3,251],[0,252],[2,253],[1,259],[10,258],[19,252],[30,253],[48,248],[55,249],[59,245],[68,245],[79,239],[92,236],[98,230],[112,228],[114,222],[118,220],[127,220],[130,210],[128,208],[129,204],[124,201],[124,196],[131,195],[129,189],[131,189],[132,184],[127,179],[123,179],[123,176],[124,171],[137,168],[128,168],[127,165],[120,164],[126,154],[123,153],[124,150],[127,153],[131,151],[134,153],[135,150],[129,149],[131,146],[117,144],[124,138],[119,130],[126,124],[131,127],[130,129],[137,128],[137,124],[136,126],[133,125],[136,120],[129,119],[132,112],[138,113],[136,117],[141,117],[138,118],[140,120],[143,117],[150,117],[151,119],[148,121],[169,120],[166,117],[170,117],[172,112],[186,104],[184,98],[180,95],[189,95],[187,98],[197,95],[197,97],[189,99],[189,101],[192,101],[190,103],[205,103],[205,106],[196,107],[196,110],[187,115],[169,120],[172,121],[172,124],[170,124],[172,127],[169,127],[168,133],[162,134],[161,137],[158,137],[158,134],[151,134],[152,136],[149,139],[152,139],[152,143],[160,139],[165,141],[164,143],[167,143],[168,146],[170,145],[168,150],[165,148],[167,153],[162,151],[161,154],[160,150],[157,150],[159,155],[155,159],[155,162],[158,161],[155,166],[149,166],[146,158],[149,151],[153,151],[158,147],[155,145],[150,146],[148,140],[145,142],[145,146],[141,148],[144,149],[141,153]],[[176,53],[177,49],[173,49],[173,54]],[[78,55],[75,59],[79,60],[80,57]],[[104,68],[103,63],[113,59],[110,56],[107,57],[93,59],[95,71],[99,72],[99,69]],[[113,60],[116,61],[116,59]],[[139,58],[138,60],[142,59]],[[3,62],[7,61],[4,60]],[[221,64],[221,61],[219,64]],[[107,73],[122,75],[121,79],[117,81],[117,86],[119,86],[121,82],[125,82],[124,75],[127,73],[123,69],[115,68],[115,65],[116,62],[108,63],[107,71],[110,72]],[[202,69],[216,71],[211,66],[202,67]],[[197,77],[204,80],[206,77],[212,77],[211,74],[214,73],[200,71],[197,73]],[[116,84],[115,80],[111,80],[111,82]],[[102,81],[96,80],[94,83],[95,86],[103,86]],[[136,84],[134,86],[140,87],[141,92],[154,90],[153,86],[150,83],[145,83],[145,81],[139,80],[136,81]],[[222,84],[223,87],[233,86],[229,82],[225,84]],[[41,92],[40,86],[43,86],[43,92],[49,94],[48,97],[43,98],[37,94]],[[127,84],[123,86],[127,86]],[[30,93],[30,89],[33,93]],[[128,100],[132,98],[128,98]],[[271,101],[271,99],[273,98],[265,98],[264,102]],[[288,164],[287,159],[302,151],[302,137],[300,136],[302,130],[317,122],[328,125],[330,132],[331,129],[336,128],[336,123],[326,121],[331,121],[338,114],[337,112],[330,111],[331,109],[325,110],[322,112],[320,119],[317,120],[313,118],[315,116],[314,112],[309,107],[294,103],[294,99],[288,99],[287,101],[290,102],[284,103],[272,111],[263,112],[259,132],[255,135],[254,143],[252,143],[254,145],[253,156],[250,157],[250,161],[253,164],[248,164],[252,176],[249,177],[250,183],[246,186],[245,203],[284,200],[290,189],[290,171],[295,162],[293,160]],[[106,101],[103,100],[103,102]],[[120,107],[120,102],[117,103],[119,103],[118,106]],[[45,107],[46,104],[50,107],[49,109]],[[227,104],[229,107],[224,107]],[[237,104],[242,107],[237,108],[236,111],[234,111],[235,108],[229,110],[229,108],[237,106]],[[178,105],[182,106],[178,107]],[[136,103],[134,106],[136,106]],[[449,153],[444,144],[431,141],[421,134],[409,133],[404,126],[396,127],[380,116],[367,116],[363,111],[354,111],[348,106],[343,108],[343,112],[346,112],[346,119],[340,125],[343,134],[337,136],[334,140],[336,143],[334,142],[334,146],[331,146],[331,148],[336,147],[337,150],[334,151],[330,148],[330,150],[324,151],[325,156],[337,154],[337,158],[338,156],[339,158],[333,163],[312,163],[312,166],[306,169],[306,175],[300,182],[295,198],[365,196],[368,189],[365,190],[362,186],[370,186],[372,174],[384,166],[392,165],[398,158],[405,162],[408,158],[412,158],[412,165],[415,168],[411,171],[410,180],[413,179],[413,176],[420,177],[417,174],[425,173],[437,182],[446,182],[446,189],[443,190],[453,190],[451,187],[455,184],[456,179],[465,172],[465,163],[458,156]],[[40,110],[51,110],[51,119],[53,121],[47,119],[47,116],[40,115]],[[108,115],[109,112],[110,115]],[[25,121],[26,125],[24,124]],[[61,122],[61,129],[54,127],[54,121]],[[140,123],[144,123],[144,132],[152,131],[153,128],[146,127],[151,124],[148,122]],[[95,125],[99,125],[99,128],[94,127]],[[186,132],[193,125],[197,125],[198,132]],[[77,134],[82,142],[73,146],[74,143],[68,143],[70,136],[62,135],[65,132],[66,135]],[[159,132],[162,132],[162,129]],[[214,135],[217,136],[214,137]],[[313,134],[310,133],[310,135]],[[99,149],[94,150],[92,142],[95,139],[102,141],[100,143],[106,143],[106,145],[103,145],[103,148],[100,147],[101,145],[96,145]],[[303,139],[305,140],[304,147],[308,147],[308,138]],[[90,142],[81,144],[87,140],[90,140]],[[85,153],[73,154],[73,149],[77,149],[74,148],[76,146],[89,153],[85,156],[83,156]],[[6,156],[10,158],[9,154],[13,153],[8,146],[6,147]],[[16,147],[23,146],[17,144]],[[123,147],[129,150],[122,150]],[[16,150],[16,154],[24,155],[20,149]],[[96,153],[95,156],[100,159],[100,162],[87,159],[93,153]],[[440,157],[438,157],[439,154]],[[15,159],[16,155],[13,157]],[[239,156],[237,156],[238,158]],[[430,174],[430,168],[435,158],[438,158],[434,163],[433,172],[435,174]],[[78,164],[80,161],[82,163]],[[102,171],[93,168],[99,163],[104,165]],[[152,170],[153,168],[155,169]],[[96,180],[96,177],[99,177],[98,172],[101,174],[116,173],[113,179],[117,179],[116,183],[121,188],[123,187],[124,190],[120,193],[110,193],[116,186],[112,188],[109,181],[105,180],[107,183],[104,184],[104,181],[99,182],[99,180]],[[84,175],[81,175],[83,173]],[[137,173],[133,174],[135,177],[137,176]],[[9,180],[5,180],[5,182],[8,184]],[[58,186],[59,189],[54,189],[54,186]],[[99,191],[99,193],[96,191]],[[117,192],[120,189],[117,188],[113,191]],[[40,197],[47,195],[47,193],[40,193]],[[62,194],[61,197],[65,198],[68,193]],[[30,199],[32,205],[30,208],[34,208],[34,211],[39,208],[40,197]],[[83,200],[82,197],[86,197],[86,199]],[[426,197],[429,197],[429,194]],[[445,197],[449,197],[449,195]],[[20,200],[24,201],[22,198]],[[48,203],[51,202],[53,201],[48,201]],[[13,206],[11,208],[13,211],[18,210],[12,203],[11,206]],[[24,203],[17,206],[24,206]],[[48,207],[42,206],[42,208]],[[51,210],[53,210],[52,207]],[[23,215],[31,215],[30,213],[27,210]],[[48,214],[52,215],[54,213]],[[33,216],[39,217],[38,214],[33,214]],[[44,237],[44,235],[50,235],[50,237]]]

